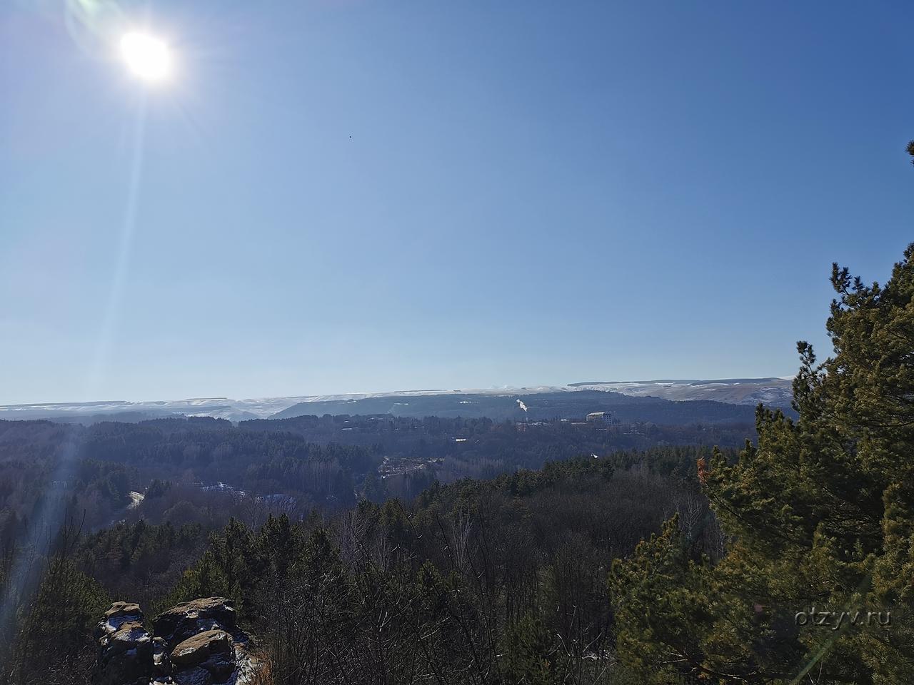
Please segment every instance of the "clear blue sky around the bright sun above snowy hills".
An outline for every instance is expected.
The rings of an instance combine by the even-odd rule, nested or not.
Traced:
[[[791,375],[914,240],[912,25],[7,1],[0,404]]]

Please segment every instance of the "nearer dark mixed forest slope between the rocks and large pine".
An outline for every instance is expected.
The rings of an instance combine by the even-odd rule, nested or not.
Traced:
[[[694,473],[696,458],[710,454],[570,458],[436,482],[409,502],[363,499],[299,520],[267,512],[218,529],[140,520],[77,535],[71,521],[72,539],[50,553],[67,583],[53,599],[39,588],[8,655],[12,677],[66,682],[80,669],[88,678],[94,652],[79,623],[113,599],[156,611],[218,595],[235,600],[275,682],[435,681],[435,672],[445,682],[522,682],[530,669],[605,681],[612,560],[677,513],[695,533],[696,555],[721,552]],[[58,614],[71,603],[80,610]],[[54,640],[53,654],[50,625],[70,637]]]

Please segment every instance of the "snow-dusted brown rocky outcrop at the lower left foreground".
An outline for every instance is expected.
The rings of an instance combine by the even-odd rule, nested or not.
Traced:
[[[93,685],[246,685],[257,661],[238,627],[231,600],[182,602],[154,618],[115,602],[95,628],[99,655]]]

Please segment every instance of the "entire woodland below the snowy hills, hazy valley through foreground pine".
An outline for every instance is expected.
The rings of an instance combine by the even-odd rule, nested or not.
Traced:
[[[914,244],[831,280],[834,355],[754,430],[3,424],[5,681],[89,681],[113,600],[221,596],[268,684],[914,682]]]

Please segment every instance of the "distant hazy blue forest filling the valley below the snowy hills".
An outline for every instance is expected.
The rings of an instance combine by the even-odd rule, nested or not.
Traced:
[[[672,404],[672,403],[670,403]],[[547,461],[664,445],[738,447],[747,424],[612,425],[554,419],[299,416],[161,418],[88,427],[0,421],[0,536],[41,511],[79,511],[94,530],[122,519],[212,522],[244,495],[277,512],[336,511],[360,497],[409,500],[435,481],[490,479]],[[131,506],[131,492],[145,494]],[[248,498],[250,499],[250,498]],[[133,502],[135,504],[135,502]]]

